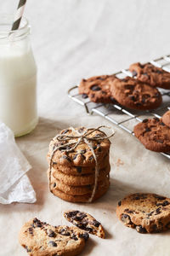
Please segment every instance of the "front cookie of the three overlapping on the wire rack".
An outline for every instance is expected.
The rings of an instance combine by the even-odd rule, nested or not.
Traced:
[[[130,77],[115,79],[111,94],[122,106],[139,110],[158,108],[162,101],[156,88]]]

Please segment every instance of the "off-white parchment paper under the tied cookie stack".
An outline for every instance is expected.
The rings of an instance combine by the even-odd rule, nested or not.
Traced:
[[[116,135],[111,138],[111,188],[99,201],[93,204],[74,204],[62,201],[48,192],[46,175],[48,143],[59,129],[80,124],[89,127],[100,124],[110,125],[99,117],[79,120],[58,117],[58,121],[40,118],[35,131],[17,139],[21,150],[33,167],[28,175],[37,193],[37,203],[0,206],[0,243],[3,246],[0,255],[26,255],[25,249],[20,247],[17,240],[21,225],[34,217],[49,224],[69,224],[62,216],[66,209],[89,212],[105,227],[105,240],[90,236],[81,255],[169,255],[170,232],[142,235],[125,227],[116,218],[117,201],[129,193],[153,192],[170,197],[169,160],[146,150],[137,139],[125,131],[115,127]]]

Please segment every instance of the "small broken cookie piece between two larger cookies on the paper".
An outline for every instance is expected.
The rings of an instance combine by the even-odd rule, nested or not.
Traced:
[[[65,218],[81,230],[86,230],[90,234],[105,238],[103,226],[92,215],[87,212],[67,211]]]

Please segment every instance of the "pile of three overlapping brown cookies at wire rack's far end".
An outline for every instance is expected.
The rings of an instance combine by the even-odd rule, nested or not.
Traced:
[[[129,70],[133,77],[125,79],[115,75],[82,79],[78,86],[79,94],[96,103],[118,102],[125,108],[137,110],[158,108],[162,98],[156,87],[170,89],[170,73],[150,63],[135,63]]]

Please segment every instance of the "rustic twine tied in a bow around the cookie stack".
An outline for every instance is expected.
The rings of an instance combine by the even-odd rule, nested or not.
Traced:
[[[80,131],[75,130],[73,127],[70,127],[69,130],[74,131],[76,133],[76,135],[58,134],[56,137],[54,137],[54,140],[57,139],[59,142],[62,142],[62,144],[60,144],[59,146],[54,145],[53,152],[51,154],[50,169],[49,169],[49,189],[50,189],[50,191],[51,191],[51,172],[52,172],[52,166],[53,166],[54,153],[59,149],[62,152],[68,153],[68,152],[73,151],[75,148],[77,148],[77,146],[80,143],[86,143],[88,145],[88,148],[91,149],[92,154],[94,155],[94,160],[95,160],[94,189],[92,191],[92,195],[89,198],[88,202],[92,202],[94,200],[94,195],[95,195],[95,192],[97,189],[98,177],[99,177],[99,163],[98,163],[96,154],[94,152],[93,142],[98,143],[99,141],[108,139],[115,134],[115,131],[112,130],[113,132],[111,133],[110,136],[105,136],[105,133],[104,133],[103,135],[98,134],[97,136],[89,137],[89,135],[94,133],[94,131],[100,131],[99,130],[100,128],[111,129],[111,127],[108,127],[105,125],[100,125],[97,128],[88,128],[88,129],[85,129],[85,131],[82,130],[82,132],[80,132]],[[100,132],[103,132],[103,131],[100,131]]]

